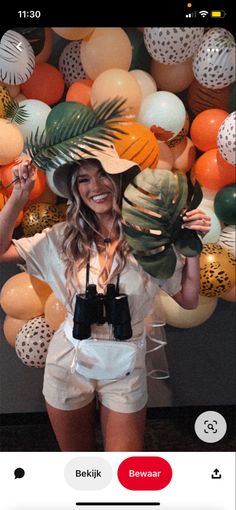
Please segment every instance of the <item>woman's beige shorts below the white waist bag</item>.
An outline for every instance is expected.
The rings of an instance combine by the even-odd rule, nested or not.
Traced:
[[[45,367],[43,394],[51,406],[64,411],[80,409],[95,396],[112,411],[133,413],[142,409],[148,400],[145,349],[138,349],[133,372],[122,379],[86,379],[71,373],[74,346],[62,329],[52,338]]]

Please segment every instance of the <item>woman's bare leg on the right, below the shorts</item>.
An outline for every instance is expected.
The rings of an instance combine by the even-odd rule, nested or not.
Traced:
[[[106,452],[143,450],[146,407],[135,413],[118,413],[101,405],[101,426]]]

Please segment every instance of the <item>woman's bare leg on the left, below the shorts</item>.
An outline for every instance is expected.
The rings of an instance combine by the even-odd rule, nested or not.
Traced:
[[[81,409],[62,411],[46,402],[48,415],[63,452],[93,452],[95,441],[95,399]]]

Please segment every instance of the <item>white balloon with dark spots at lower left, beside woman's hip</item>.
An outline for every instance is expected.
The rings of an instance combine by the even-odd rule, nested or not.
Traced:
[[[53,334],[43,316],[35,317],[22,326],[16,335],[15,350],[24,365],[34,368],[45,366]]]

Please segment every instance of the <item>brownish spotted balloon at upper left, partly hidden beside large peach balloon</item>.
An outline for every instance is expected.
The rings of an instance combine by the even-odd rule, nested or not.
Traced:
[[[77,80],[87,78],[80,59],[81,43],[82,41],[73,41],[67,44],[59,58],[59,69],[67,87]]]

